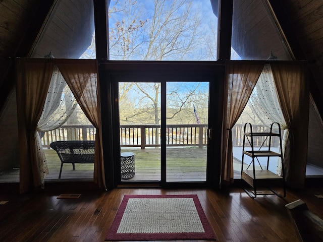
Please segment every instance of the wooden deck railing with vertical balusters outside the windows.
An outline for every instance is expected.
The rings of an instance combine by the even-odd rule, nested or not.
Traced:
[[[242,146],[244,125],[235,125],[232,129],[233,146]],[[253,132],[265,132],[268,127],[253,125]],[[59,129],[45,132],[41,141],[44,148],[49,149],[53,141],[65,140],[94,140],[96,129],[92,125],[64,125]],[[260,146],[264,137],[258,137],[255,146]],[[273,139],[272,145],[276,141]],[[197,146],[202,148],[207,145],[207,125],[167,125],[167,146]],[[265,141],[264,146],[268,145]],[[146,147],[160,146],[160,125],[121,125],[121,147]]]

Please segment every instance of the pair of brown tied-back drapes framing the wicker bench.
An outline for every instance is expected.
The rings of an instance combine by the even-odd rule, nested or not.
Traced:
[[[27,192],[32,186],[44,185],[45,175],[42,173],[46,172],[46,167],[45,161],[38,155],[42,147],[39,145],[40,137],[37,137],[37,124],[43,113],[55,65],[59,67],[83,112],[96,128],[94,181],[100,188],[105,188],[96,60],[18,58],[16,88],[20,192]]]

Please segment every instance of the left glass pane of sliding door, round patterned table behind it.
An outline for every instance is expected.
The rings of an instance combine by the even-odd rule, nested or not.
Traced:
[[[159,181],[160,83],[119,82],[121,181]]]

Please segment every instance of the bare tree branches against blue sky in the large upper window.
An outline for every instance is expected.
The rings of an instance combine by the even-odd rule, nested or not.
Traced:
[[[179,61],[202,41],[201,18],[191,1],[154,0],[147,11],[140,1],[116,0],[109,14],[111,59]]]

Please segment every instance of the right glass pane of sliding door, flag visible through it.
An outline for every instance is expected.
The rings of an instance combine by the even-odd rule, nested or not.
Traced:
[[[166,181],[206,181],[208,82],[166,84]]]

